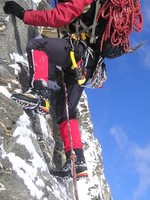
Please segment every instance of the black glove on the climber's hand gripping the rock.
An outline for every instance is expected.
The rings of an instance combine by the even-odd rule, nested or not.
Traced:
[[[7,1],[5,3],[5,6],[3,7],[3,10],[6,14],[14,14],[16,15],[19,19],[23,20],[24,17],[24,9],[17,4],[14,1]]]

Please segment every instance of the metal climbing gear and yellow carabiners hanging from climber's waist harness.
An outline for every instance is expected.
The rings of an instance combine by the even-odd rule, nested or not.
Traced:
[[[93,50],[87,46],[86,42],[82,39],[83,36],[79,37],[76,34],[68,34],[69,43],[71,44],[70,59],[72,61],[71,69],[75,70],[77,82],[81,87],[88,88],[101,88],[103,83],[107,80],[106,65],[104,58],[99,56],[92,78],[88,81],[88,85],[85,86],[86,75],[87,75],[87,63],[89,56],[92,56]],[[85,37],[84,37],[85,38]],[[74,42],[78,42],[84,45],[85,51],[81,59],[76,62],[74,55]]]

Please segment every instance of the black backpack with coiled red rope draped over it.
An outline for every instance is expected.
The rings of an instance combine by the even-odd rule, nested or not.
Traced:
[[[94,50],[116,58],[137,49],[130,47],[130,34],[142,30],[143,18],[139,0],[95,0],[76,23],[76,33],[87,32]]]

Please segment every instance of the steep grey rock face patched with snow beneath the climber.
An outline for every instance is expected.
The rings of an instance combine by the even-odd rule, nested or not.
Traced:
[[[4,2],[0,2],[0,199],[73,200],[73,181],[58,181],[49,172],[65,162],[53,112],[47,116],[25,112],[10,98],[26,87],[20,77],[27,76],[27,71],[16,63],[26,64],[26,44],[37,30],[5,15]],[[19,2],[29,8],[32,1]],[[89,171],[89,178],[77,183],[79,199],[111,200],[86,94],[78,105],[78,119]]]

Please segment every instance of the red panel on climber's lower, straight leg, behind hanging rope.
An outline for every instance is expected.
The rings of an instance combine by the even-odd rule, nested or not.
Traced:
[[[70,127],[70,131],[69,131]],[[70,119],[69,121],[64,121],[59,124],[60,135],[62,137],[64,143],[64,150],[65,152],[71,150],[71,141],[70,136],[72,137],[72,147],[75,148],[82,148],[82,141],[81,141],[81,134],[79,130],[79,124],[76,119]]]

